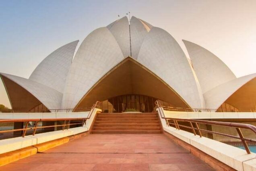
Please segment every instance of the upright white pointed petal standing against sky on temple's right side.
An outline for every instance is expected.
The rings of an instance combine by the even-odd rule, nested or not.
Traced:
[[[236,78],[227,65],[213,53],[195,43],[185,40],[183,42],[188,50],[203,93]]]

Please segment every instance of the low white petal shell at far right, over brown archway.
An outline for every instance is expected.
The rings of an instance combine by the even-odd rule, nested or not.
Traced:
[[[256,73],[245,75],[218,85],[204,93],[206,107],[211,109],[219,108],[233,93],[254,78],[256,78]]]

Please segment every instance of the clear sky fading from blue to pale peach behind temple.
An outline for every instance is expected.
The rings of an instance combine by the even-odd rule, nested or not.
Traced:
[[[182,39],[241,77],[256,73],[255,9],[256,0],[0,0],[0,72],[28,78],[52,51],[130,11],[170,33],[187,57]],[[1,81],[0,104],[10,108]]]

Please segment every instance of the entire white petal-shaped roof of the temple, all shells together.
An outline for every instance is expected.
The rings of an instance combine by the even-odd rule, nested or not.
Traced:
[[[29,79],[2,75],[48,109],[75,108],[103,76],[131,55],[191,108],[218,108],[248,81],[254,79],[252,89],[256,85],[256,74],[236,78],[213,53],[184,41],[191,64],[169,33],[134,16],[130,30],[127,17],[123,17],[91,32],[72,61],[77,43],[68,43],[48,55]]]

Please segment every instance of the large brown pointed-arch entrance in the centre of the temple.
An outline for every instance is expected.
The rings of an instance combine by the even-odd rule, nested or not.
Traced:
[[[161,78],[128,57],[106,73],[78,102],[74,112],[102,102],[102,112],[152,112],[155,100],[163,106],[190,108]]]

